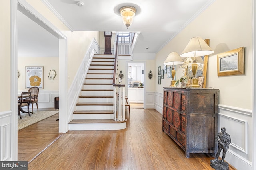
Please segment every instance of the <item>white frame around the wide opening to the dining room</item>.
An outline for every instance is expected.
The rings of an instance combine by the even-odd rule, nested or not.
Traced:
[[[19,10],[31,20],[38,23],[49,33],[59,39],[59,97],[67,99],[67,37],[42,14],[36,11],[25,0],[10,0],[10,63],[11,63],[11,109],[12,109],[12,128],[11,128],[11,160],[18,159],[18,120],[17,120],[17,11]],[[68,104],[67,100],[59,101],[59,132],[68,131]]]

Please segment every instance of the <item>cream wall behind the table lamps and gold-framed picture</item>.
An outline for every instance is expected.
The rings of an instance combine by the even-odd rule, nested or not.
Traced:
[[[252,1],[216,0],[208,9],[188,24],[161,51],[156,54],[156,67],[163,67],[163,62],[172,51],[179,54],[192,37],[210,39],[214,53],[208,59],[206,87],[220,89],[219,104],[252,109]],[[218,53],[245,47],[245,74],[235,76],[217,76]],[[178,70],[177,78],[182,73]],[[164,78],[156,92],[163,93],[163,87],[170,82]]]

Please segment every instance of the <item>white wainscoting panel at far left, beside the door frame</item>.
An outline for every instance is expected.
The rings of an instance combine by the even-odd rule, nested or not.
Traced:
[[[11,159],[11,115],[12,111],[0,112],[0,160]]]

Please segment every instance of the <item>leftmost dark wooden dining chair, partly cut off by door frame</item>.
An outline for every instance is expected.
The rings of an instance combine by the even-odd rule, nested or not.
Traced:
[[[24,100],[28,102],[24,102]],[[28,113],[28,115],[31,116],[29,112],[30,101],[31,101],[31,92],[22,92],[21,96],[18,96],[18,115],[20,116],[20,119],[22,119],[20,112]],[[22,109],[22,107],[24,106],[28,107],[27,112]]]

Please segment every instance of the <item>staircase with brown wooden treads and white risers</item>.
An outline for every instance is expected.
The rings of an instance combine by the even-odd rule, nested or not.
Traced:
[[[114,121],[114,55],[94,55],[81,95],[73,112],[70,130],[119,130],[126,121]]]

